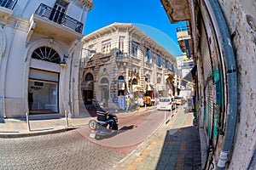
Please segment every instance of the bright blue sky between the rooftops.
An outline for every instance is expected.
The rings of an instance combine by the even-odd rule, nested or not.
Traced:
[[[160,0],[93,0],[93,4],[84,35],[114,22],[132,23],[174,56],[181,54],[176,28],[185,23],[171,24]]]

